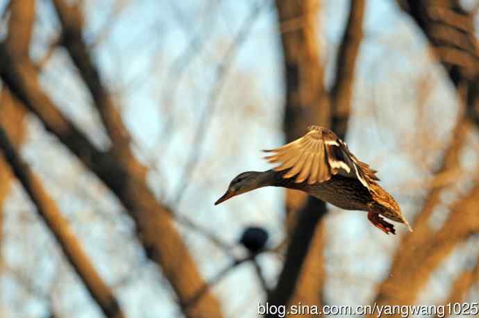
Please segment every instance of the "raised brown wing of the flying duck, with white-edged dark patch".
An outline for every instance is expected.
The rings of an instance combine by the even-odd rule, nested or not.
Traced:
[[[265,151],[272,153],[265,159],[279,164],[274,169],[289,169],[283,174],[283,178],[296,176],[296,183],[306,180],[308,184],[321,183],[335,174],[340,174],[357,178],[364,187],[370,189],[369,182],[379,180],[376,171],[358,160],[348,150],[346,143],[328,128],[310,126],[303,137],[283,147]]]

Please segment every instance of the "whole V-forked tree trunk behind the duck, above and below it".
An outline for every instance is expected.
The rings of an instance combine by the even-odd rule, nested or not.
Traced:
[[[317,8],[317,1],[278,0],[276,7],[281,28],[285,21],[300,17],[305,20],[302,28],[282,33],[287,77],[287,140],[302,135],[310,124],[329,126],[329,123],[344,138],[351,108],[355,61],[362,39],[364,1],[351,1],[348,24],[338,50],[337,77],[331,92],[326,92],[324,88],[315,38],[314,8]],[[287,192],[287,207],[290,206],[288,201],[301,201],[294,199],[298,195],[297,192]],[[298,203],[295,205],[298,206]],[[299,210],[285,265],[269,303],[287,305],[301,302],[316,306],[323,303],[325,233],[321,219],[325,214],[325,203],[311,196]]]

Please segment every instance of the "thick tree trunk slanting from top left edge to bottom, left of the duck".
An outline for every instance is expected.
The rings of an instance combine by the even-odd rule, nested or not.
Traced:
[[[117,162],[117,178],[113,181],[115,194],[135,219],[147,254],[162,267],[162,271],[174,288],[185,315],[188,317],[221,317],[219,302],[211,292],[192,307],[184,305],[203,285],[196,263],[174,228],[171,211],[160,206],[146,184],[144,167],[131,151],[131,135],[124,126],[117,106],[103,85],[98,69],[83,40],[83,17],[76,6],[62,0],[54,0],[62,24],[62,44],[78,68],[85,85],[92,94],[106,131],[112,140],[110,156]],[[109,158],[112,160],[112,158]],[[176,264],[181,263],[178,267]]]

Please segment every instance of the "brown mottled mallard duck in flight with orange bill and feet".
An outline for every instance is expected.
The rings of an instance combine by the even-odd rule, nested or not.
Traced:
[[[396,234],[396,230],[383,217],[403,223],[412,231],[398,203],[378,185],[377,171],[358,160],[346,142],[328,128],[310,126],[303,137],[264,151],[270,153],[264,158],[277,166],[239,174],[215,206],[259,187],[287,187],[344,210],[367,211],[369,221],[386,234]]]

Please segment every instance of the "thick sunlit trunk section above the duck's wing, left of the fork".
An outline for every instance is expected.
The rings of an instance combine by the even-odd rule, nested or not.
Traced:
[[[284,115],[287,141],[303,135],[311,124],[330,126],[328,94],[319,62],[318,8],[317,0],[276,0],[288,92]],[[283,32],[284,23],[292,19],[301,19],[303,24]]]

